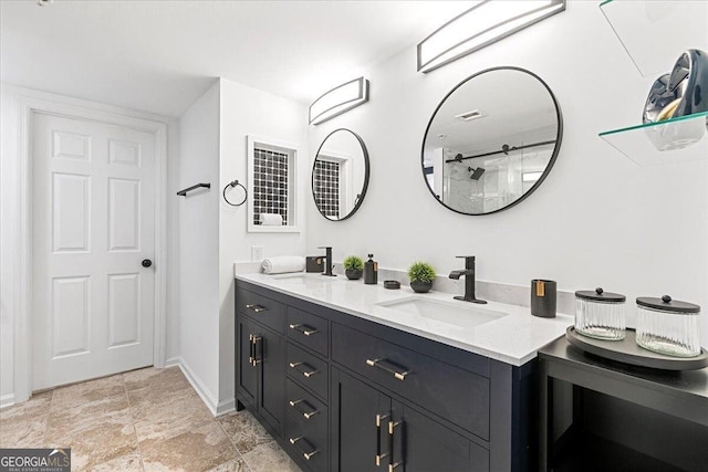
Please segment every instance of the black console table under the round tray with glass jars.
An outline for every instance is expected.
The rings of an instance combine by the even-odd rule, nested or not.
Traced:
[[[539,373],[540,471],[705,471],[708,368],[632,366],[560,338]]]

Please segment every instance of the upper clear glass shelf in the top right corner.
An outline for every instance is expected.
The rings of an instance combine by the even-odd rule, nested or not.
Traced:
[[[644,77],[669,73],[688,49],[708,50],[705,0],[607,0],[600,9]]]

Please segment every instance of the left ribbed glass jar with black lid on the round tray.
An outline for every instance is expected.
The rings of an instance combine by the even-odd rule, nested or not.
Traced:
[[[626,300],[624,295],[607,293],[600,287],[575,292],[575,331],[596,339],[624,339]]]

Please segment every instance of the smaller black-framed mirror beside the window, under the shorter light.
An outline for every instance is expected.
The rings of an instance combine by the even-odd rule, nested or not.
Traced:
[[[317,210],[327,220],[346,220],[362,206],[367,187],[364,140],[351,129],[333,130],[320,145],[312,166],[312,197]]]

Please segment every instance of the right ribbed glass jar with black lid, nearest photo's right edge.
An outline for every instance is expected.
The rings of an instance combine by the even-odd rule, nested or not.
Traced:
[[[660,298],[637,298],[637,344],[639,347],[676,357],[700,354],[698,315],[700,306]]]

